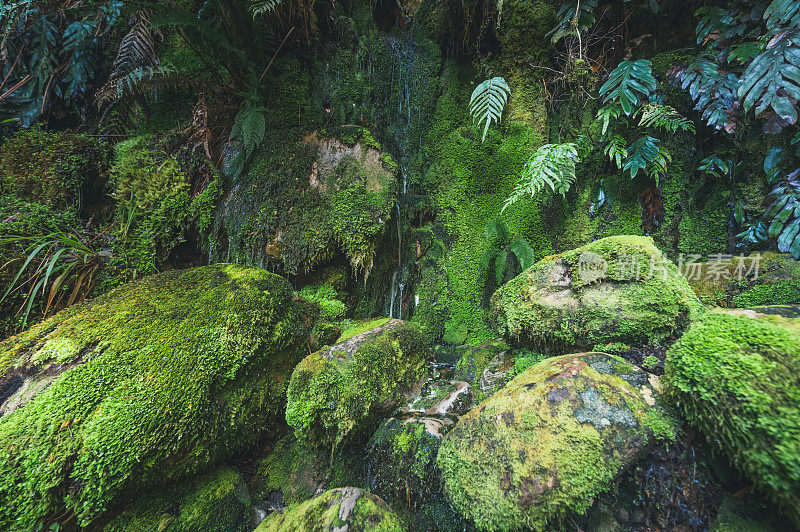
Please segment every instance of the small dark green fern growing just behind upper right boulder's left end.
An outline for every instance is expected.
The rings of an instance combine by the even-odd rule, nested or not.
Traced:
[[[486,272],[487,278],[494,277],[497,286],[503,284],[504,280],[527,270],[536,262],[536,254],[528,241],[521,236],[513,235],[508,225],[500,218],[495,218],[486,225],[484,237],[489,247],[481,256],[479,265]],[[512,256],[516,259],[516,264],[509,260]]]

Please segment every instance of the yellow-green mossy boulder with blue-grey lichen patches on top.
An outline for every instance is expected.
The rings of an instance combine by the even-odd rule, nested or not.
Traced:
[[[655,437],[671,437],[658,378],[602,353],[544,360],[464,416],[437,463],[478,528],[543,530],[583,513]]]

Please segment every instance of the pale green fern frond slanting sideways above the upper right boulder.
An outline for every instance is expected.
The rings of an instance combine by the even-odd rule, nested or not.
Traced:
[[[578,146],[572,142],[545,144],[536,150],[525,164],[520,182],[506,199],[502,210],[524,196],[534,197],[546,187],[562,196],[566,194],[575,182],[578,159]]]

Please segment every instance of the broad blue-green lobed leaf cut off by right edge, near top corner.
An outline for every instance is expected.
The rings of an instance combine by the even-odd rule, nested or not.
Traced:
[[[767,49],[742,74],[739,99],[745,111],[755,107],[759,115],[771,109],[788,124],[797,123],[800,31],[784,31],[770,39]]]

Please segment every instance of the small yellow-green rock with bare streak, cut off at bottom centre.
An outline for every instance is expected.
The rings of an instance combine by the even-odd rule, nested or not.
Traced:
[[[337,488],[310,501],[274,513],[256,532],[295,532],[314,530],[334,532],[400,532],[400,519],[381,499],[360,488]]]

